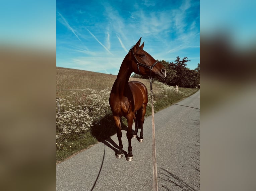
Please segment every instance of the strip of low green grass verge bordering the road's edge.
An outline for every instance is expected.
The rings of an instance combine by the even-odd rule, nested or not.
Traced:
[[[154,103],[154,112],[164,109],[173,103],[193,95],[198,91],[198,89],[187,89],[182,88],[184,93],[172,93],[166,94],[156,94],[153,99],[158,100]],[[149,100],[151,102],[151,100]],[[151,115],[151,105],[147,106],[146,116]],[[122,117],[122,129],[127,128],[127,121]],[[90,131],[85,131],[83,134],[79,134],[70,138],[71,141],[58,145],[56,143],[56,162],[59,163],[71,155],[78,153],[79,151],[88,148],[90,145],[96,144],[98,141],[103,141],[108,137],[116,133],[115,123],[113,121],[112,115],[108,114],[104,116],[98,123],[93,124]]]

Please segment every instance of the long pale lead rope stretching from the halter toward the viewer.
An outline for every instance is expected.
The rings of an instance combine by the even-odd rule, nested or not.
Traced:
[[[155,151],[155,119],[154,119],[152,77],[150,78],[150,92],[151,92],[151,103],[152,103],[153,191],[158,191],[158,189],[157,189],[157,167],[156,167],[156,151]]]

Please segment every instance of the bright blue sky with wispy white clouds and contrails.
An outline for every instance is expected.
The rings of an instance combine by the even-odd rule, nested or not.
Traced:
[[[154,59],[195,69],[200,1],[56,1],[56,66],[117,75],[140,37]]]

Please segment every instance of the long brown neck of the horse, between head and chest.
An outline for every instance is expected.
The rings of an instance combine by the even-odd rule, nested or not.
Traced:
[[[116,92],[123,93],[124,90],[128,88],[131,74],[132,70],[130,69],[129,64],[123,61],[113,86]]]

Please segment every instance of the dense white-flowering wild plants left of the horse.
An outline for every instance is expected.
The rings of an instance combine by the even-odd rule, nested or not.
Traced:
[[[69,137],[90,130],[93,124],[111,112],[109,95],[107,90],[87,89],[77,101],[56,99],[56,149],[62,148],[59,145],[67,143]]]

